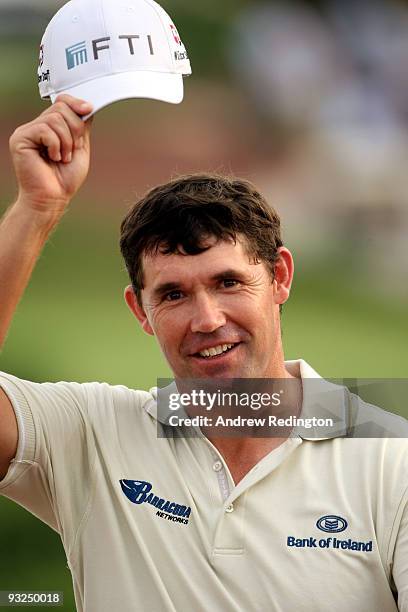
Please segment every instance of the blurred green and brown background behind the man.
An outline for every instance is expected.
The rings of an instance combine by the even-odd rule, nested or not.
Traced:
[[[15,195],[8,138],[46,107],[38,47],[61,4],[0,2],[2,210]],[[98,114],[89,180],[41,256],[1,369],[143,389],[169,376],[124,304],[119,225],[157,182],[215,170],[253,180],[281,213],[297,266],[283,311],[286,357],[326,377],[407,377],[408,78],[395,68],[408,66],[405,4],[362,2],[361,14],[334,1],[163,6],[191,58],[185,100],[132,100]],[[74,609],[58,537],[2,498],[7,589],[62,590],[64,610]]]

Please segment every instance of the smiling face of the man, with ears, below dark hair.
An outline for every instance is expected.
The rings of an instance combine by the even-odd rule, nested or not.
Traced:
[[[289,294],[289,252],[280,250],[284,256],[273,280],[264,263],[250,260],[240,240],[209,244],[200,255],[145,257],[142,308],[127,294],[129,306],[157,337],[177,378],[282,375],[279,304]]]

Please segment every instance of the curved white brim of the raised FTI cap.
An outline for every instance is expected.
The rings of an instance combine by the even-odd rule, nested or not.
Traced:
[[[93,105],[93,111],[83,117],[83,119],[88,119],[105,106],[129,98],[152,98],[153,100],[179,104],[183,100],[184,86],[181,74],[142,71],[120,72],[92,79],[75,87],[51,94],[51,101],[54,103],[61,94],[69,94],[90,102]]]

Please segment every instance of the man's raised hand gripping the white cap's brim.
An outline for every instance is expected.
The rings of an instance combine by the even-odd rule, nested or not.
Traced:
[[[90,159],[92,105],[61,95],[39,117],[17,128],[10,151],[18,181],[19,206],[58,221],[84,182]]]

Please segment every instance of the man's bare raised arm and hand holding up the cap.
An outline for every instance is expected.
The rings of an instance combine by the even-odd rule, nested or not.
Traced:
[[[68,95],[10,138],[18,197],[0,223],[0,348],[41,250],[84,182],[90,159],[92,111]],[[0,480],[17,447],[17,424],[0,390]]]

